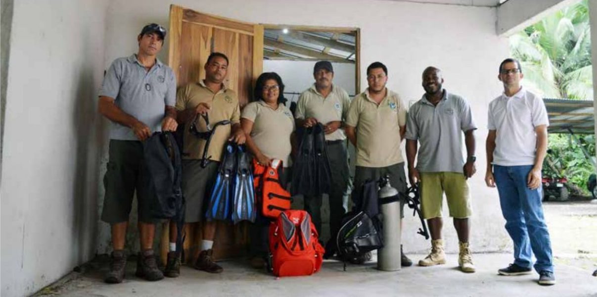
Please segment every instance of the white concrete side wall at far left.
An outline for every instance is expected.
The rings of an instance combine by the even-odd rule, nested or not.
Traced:
[[[107,1],[14,1],[2,159],[2,296],[95,255]],[[3,102],[4,103],[4,102]]]

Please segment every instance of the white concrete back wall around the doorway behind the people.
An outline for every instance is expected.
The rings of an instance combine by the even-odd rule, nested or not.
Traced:
[[[104,67],[117,57],[133,53],[134,36],[148,22],[168,24],[170,1],[113,0],[107,15]],[[418,4],[395,1],[274,1],[221,0],[176,2],[187,8],[253,23],[361,28],[361,72],[374,61],[389,69],[388,87],[408,103],[423,93],[421,72],[426,66],[444,71],[447,90],[465,96],[479,125],[478,173],[470,180],[475,215],[472,248],[493,251],[508,248],[495,189],[483,181],[487,106],[501,93],[497,68],[509,54],[506,38],[496,35],[496,8]],[[167,62],[167,51],[160,54]],[[367,86],[361,74],[361,86]],[[102,157],[105,158],[105,157]],[[98,180],[100,182],[100,180]],[[447,210],[446,210],[447,211]],[[446,215],[447,216],[447,212]],[[407,251],[423,250],[428,242],[416,234],[418,222],[408,216],[403,242]],[[445,222],[449,252],[457,250],[456,232]],[[101,224],[107,235],[106,224]],[[106,252],[107,238],[100,238],[99,252]]]

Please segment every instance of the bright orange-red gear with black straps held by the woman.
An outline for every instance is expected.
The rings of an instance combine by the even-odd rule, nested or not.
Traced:
[[[290,209],[290,193],[280,183],[279,170],[282,161],[273,160],[272,166],[263,166],[253,159],[253,185],[261,214],[267,218],[278,218],[281,212]]]

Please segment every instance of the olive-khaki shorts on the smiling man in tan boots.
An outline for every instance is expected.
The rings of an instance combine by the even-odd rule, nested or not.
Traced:
[[[421,213],[423,218],[442,217],[442,198],[445,192],[450,216],[457,219],[469,218],[469,185],[464,174],[457,172],[420,173]]]

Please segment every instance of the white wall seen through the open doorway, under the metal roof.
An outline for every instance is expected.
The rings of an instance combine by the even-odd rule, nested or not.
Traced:
[[[264,60],[263,72],[276,72],[282,77],[285,92],[301,93],[313,85],[313,66],[315,61]],[[344,88],[349,95],[355,94],[355,69],[351,63],[332,63],[334,67],[333,82]],[[298,95],[286,95],[296,102]]]

